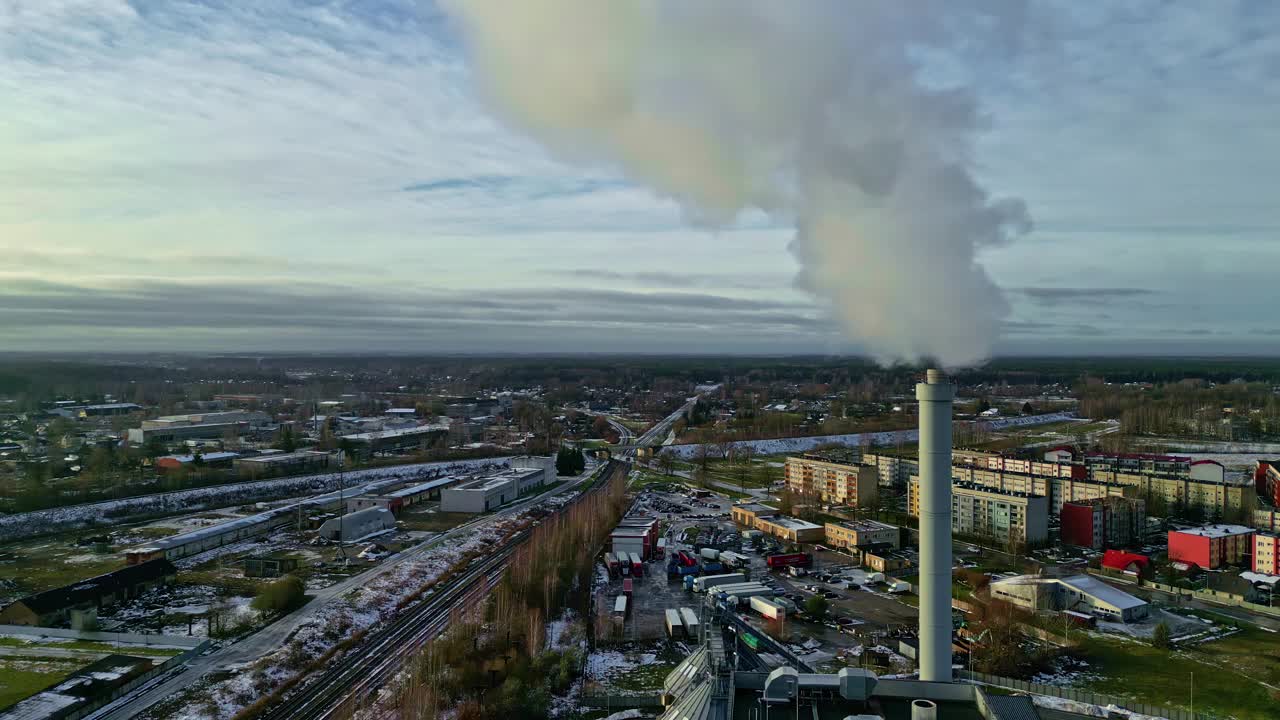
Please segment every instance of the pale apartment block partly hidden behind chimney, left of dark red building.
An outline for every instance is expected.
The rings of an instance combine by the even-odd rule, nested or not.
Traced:
[[[1048,541],[1048,498],[1044,496],[960,480],[951,483],[951,529],[955,533],[1030,547]],[[922,516],[919,478],[911,478],[908,487],[908,511]]]

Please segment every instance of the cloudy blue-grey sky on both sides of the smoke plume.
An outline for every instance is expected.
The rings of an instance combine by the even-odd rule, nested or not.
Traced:
[[[1034,219],[979,256],[995,351],[1280,351],[1280,4],[1020,17],[922,60]],[[0,350],[865,350],[786,223],[691,224],[481,86],[428,1],[0,0]]]

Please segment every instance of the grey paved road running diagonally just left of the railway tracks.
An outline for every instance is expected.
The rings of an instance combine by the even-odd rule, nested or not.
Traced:
[[[406,562],[412,559],[421,557],[428,550],[431,550],[444,542],[461,541],[466,538],[477,527],[492,523],[499,518],[507,518],[524,510],[531,507],[532,505],[545,500],[553,495],[561,495],[577,488],[590,474],[594,471],[594,466],[588,468],[581,475],[571,478],[568,483],[559,486],[545,493],[534,496],[526,501],[518,502],[506,510],[495,512],[493,515],[485,515],[476,518],[468,523],[458,525],[447,533],[436,536],[425,543],[421,543],[413,548],[406,550],[399,555],[396,555],[380,565],[369,569],[365,573],[347,578],[346,580],[330,585],[328,588],[316,591],[314,597],[303,605],[300,610],[266,625],[265,628],[257,630],[252,635],[236,642],[229,646],[224,646],[220,650],[196,657],[187,662],[177,675],[170,674],[156,680],[155,683],[147,685],[140,693],[134,694],[132,698],[123,701],[116,701],[105,710],[100,710],[99,714],[93,715],[96,720],[127,720],[129,717],[137,716],[140,712],[151,707],[152,705],[160,702],[164,698],[172,697],[177,693],[182,693],[189,689],[196,682],[218,670],[234,670],[248,662],[252,662],[266,655],[268,652],[284,644],[284,641],[303,623],[310,620],[315,612],[324,607],[328,602],[334,598],[358,588],[371,579],[392,571],[401,562]]]

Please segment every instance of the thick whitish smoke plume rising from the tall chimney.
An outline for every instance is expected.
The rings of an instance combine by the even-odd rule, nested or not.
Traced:
[[[796,228],[801,287],[882,360],[986,357],[977,251],[1030,229],[972,173],[973,92],[919,58],[1016,45],[1016,0],[443,0],[500,111],[698,223]]]

